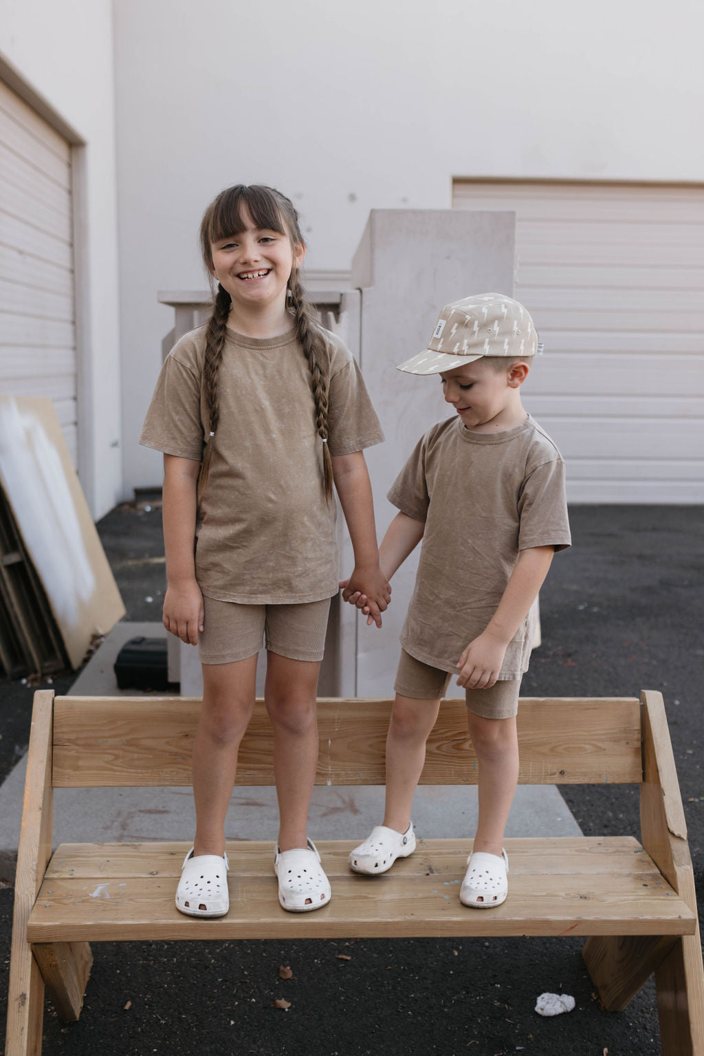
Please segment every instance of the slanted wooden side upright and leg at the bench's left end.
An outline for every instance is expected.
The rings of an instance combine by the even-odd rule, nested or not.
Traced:
[[[54,693],[35,694],[24,805],[17,854],[7,998],[7,1056],[41,1052],[44,984],[26,938],[26,924],[52,853],[52,705]]]

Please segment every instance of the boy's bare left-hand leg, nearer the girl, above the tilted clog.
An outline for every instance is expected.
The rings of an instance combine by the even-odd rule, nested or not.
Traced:
[[[386,736],[383,824],[397,832],[405,832],[411,824],[411,805],[425,761],[425,742],[439,709],[439,699],[415,700],[396,694]]]

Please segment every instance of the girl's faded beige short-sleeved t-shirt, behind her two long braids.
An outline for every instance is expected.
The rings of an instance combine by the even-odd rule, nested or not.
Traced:
[[[209,419],[201,391],[206,327],[167,357],[139,442],[201,460]],[[350,454],[383,433],[351,354],[325,332],[329,450]],[[228,328],[220,423],[196,524],[195,574],[218,601],[287,604],[338,590],[335,503],[325,499],[323,441],[308,363],[293,331],[244,337]]]

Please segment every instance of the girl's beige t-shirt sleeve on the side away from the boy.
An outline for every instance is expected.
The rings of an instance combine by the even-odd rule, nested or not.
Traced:
[[[167,455],[196,461],[203,457],[201,379],[173,354],[156,381],[139,442]]]

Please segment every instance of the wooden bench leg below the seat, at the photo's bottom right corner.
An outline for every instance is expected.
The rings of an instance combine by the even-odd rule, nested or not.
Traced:
[[[704,979],[699,935],[678,940],[655,972],[663,1056],[704,1056]]]

